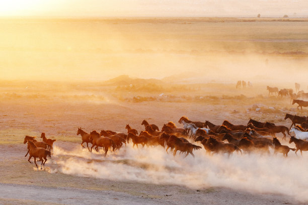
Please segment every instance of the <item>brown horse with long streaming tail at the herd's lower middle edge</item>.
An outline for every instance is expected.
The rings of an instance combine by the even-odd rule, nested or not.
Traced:
[[[180,140],[179,138],[177,138],[174,135],[171,135],[169,137],[168,141],[173,143],[173,145],[174,145],[173,156],[175,156],[177,151],[179,150],[181,152],[186,152],[185,157],[187,157],[188,154],[191,154],[193,157],[195,157],[195,155],[193,154],[192,151],[193,150],[198,150],[198,149],[202,148],[202,147],[200,147],[198,145],[191,144],[190,142],[182,142],[182,140]]]

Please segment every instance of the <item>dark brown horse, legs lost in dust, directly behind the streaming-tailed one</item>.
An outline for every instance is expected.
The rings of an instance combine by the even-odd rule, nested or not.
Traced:
[[[227,153],[228,156],[233,153],[234,151],[237,152],[241,152],[241,149],[234,145],[234,144],[230,144],[230,143],[222,143],[222,142],[218,142],[215,138],[210,137],[206,143],[208,145],[212,145],[212,152],[213,153]]]

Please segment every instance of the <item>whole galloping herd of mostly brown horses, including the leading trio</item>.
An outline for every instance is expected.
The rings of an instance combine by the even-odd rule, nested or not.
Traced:
[[[97,152],[99,147],[102,147],[105,152],[120,150],[123,145],[126,146],[130,143],[133,147],[141,145],[144,147],[149,146],[161,146],[168,150],[170,148],[175,156],[177,151],[185,154],[193,154],[193,150],[202,149],[201,146],[193,143],[200,143],[210,155],[213,153],[227,153],[229,156],[234,151],[239,153],[250,153],[254,151],[260,151],[261,153],[270,153],[269,148],[274,149],[274,154],[282,153],[287,157],[290,150],[298,150],[302,154],[302,151],[308,151],[308,119],[303,116],[296,116],[286,114],[285,118],[292,121],[289,130],[282,125],[275,125],[270,122],[258,122],[250,119],[247,125],[234,125],[229,121],[223,121],[221,125],[214,125],[209,121],[193,122],[187,117],[183,116],[179,119],[179,123],[183,125],[183,128],[179,128],[173,122],[164,124],[162,129],[155,124],[149,124],[146,120],[143,120],[141,125],[144,125],[144,130],[138,131],[126,125],[127,133],[118,133],[111,130],[101,130],[100,133],[92,131],[86,133],[82,128],[78,128],[77,135],[81,135],[81,146],[85,148],[84,143],[87,143],[88,150],[92,152],[94,148]],[[300,125],[296,125],[300,124]],[[290,128],[291,128],[290,127]],[[286,134],[290,135],[290,132],[295,134],[290,137],[289,143],[294,142],[296,148],[290,148],[286,145],[281,145],[278,138],[275,136],[277,133],[282,133],[282,140],[286,140]],[[35,140],[35,137],[26,136],[24,144],[28,143],[29,159],[34,157],[34,163],[36,164],[36,158],[39,158],[42,165],[47,161],[47,156],[51,157],[50,150],[55,140],[47,139],[45,133],[41,134],[43,141],[39,142]],[[225,142],[227,141],[227,142]],[[91,148],[89,143],[92,144]],[[26,156],[27,156],[26,154]],[[25,156],[25,157],[26,157]],[[44,160],[43,160],[44,159]]]

